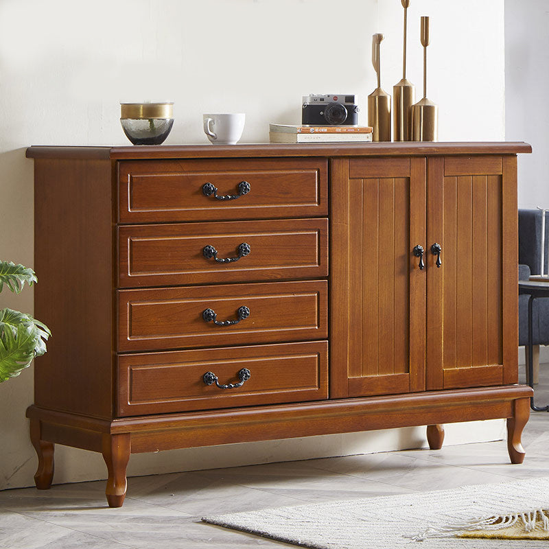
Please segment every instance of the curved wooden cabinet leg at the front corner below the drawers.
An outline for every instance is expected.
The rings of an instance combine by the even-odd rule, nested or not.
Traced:
[[[130,459],[130,434],[104,434],[102,454],[107,465],[106,496],[109,507],[121,507],[126,497],[126,466]]]

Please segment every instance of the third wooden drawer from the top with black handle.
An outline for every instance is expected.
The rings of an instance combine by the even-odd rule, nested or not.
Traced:
[[[118,298],[119,351],[328,337],[325,280],[118,290]],[[247,318],[241,307],[248,307]],[[207,309],[213,313],[205,320]],[[215,322],[235,323],[215,325],[213,314]]]

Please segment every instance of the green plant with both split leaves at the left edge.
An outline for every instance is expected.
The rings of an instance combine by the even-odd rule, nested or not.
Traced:
[[[34,270],[0,260],[0,292],[6,285],[19,294],[25,282],[32,286],[37,281]],[[49,336],[49,328],[30,314],[0,309],[0,383],[19,375],[34,357],[43,355]]]

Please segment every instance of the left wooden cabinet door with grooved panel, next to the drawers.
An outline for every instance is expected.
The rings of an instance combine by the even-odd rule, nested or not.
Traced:
[[[330,396],[424,390],[426,161],[331,166]]]

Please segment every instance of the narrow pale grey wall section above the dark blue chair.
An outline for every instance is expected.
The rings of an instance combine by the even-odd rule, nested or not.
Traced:
[[[533,148],[519,161],[519,208],[549,208],[548,28],[548,0],[505,0],[505,137]]]

